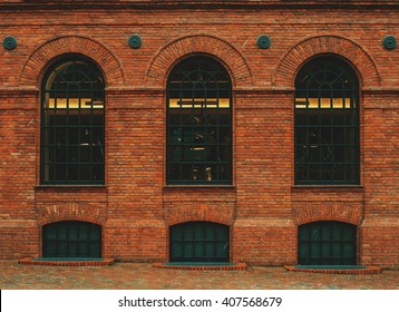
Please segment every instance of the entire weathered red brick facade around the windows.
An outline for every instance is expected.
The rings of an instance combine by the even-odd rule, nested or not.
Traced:
[[[231,226],[232,261],[295,264],[298,225],[331,220],[358,226],[360,264],[399,267],[399,48],[381,43],[399,38],[397,1],[64,2],[0,2],[0,40],[18,40],[0,47],[1,259],[40,256],[42,225],[80,220],[103,225],[105,257],[167,261],[169,225],[212,221]],[[40,87],[67,53],[91,58],[106,78],[105,186],[39,185]],[[228,187],[165,183],[167,75],[195,53],[232,78]],[[359,76],[358,187],[293,183],[293,82],[321,53]]]

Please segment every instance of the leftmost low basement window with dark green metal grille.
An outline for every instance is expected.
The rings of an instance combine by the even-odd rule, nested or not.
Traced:
[[[42,256],[59,259],[101,257],[101,226],[64,221],[42,227]]]

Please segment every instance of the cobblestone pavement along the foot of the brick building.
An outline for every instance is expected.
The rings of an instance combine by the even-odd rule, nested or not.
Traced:
[[[37,266],[0,261],[2,290],[399,290],[399,271],[341,275],[250,266],[246,271],[185,271],[148,263]]]

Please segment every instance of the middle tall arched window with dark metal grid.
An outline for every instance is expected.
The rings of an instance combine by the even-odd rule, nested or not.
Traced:
[[[231,81],[207,57],[189,57],[167,81],[167,183],[231,184]]]

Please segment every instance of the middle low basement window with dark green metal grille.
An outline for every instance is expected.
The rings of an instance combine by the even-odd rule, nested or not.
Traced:
[[[171,262],[228,262],[230,230],[211,222],[171,226]]]

